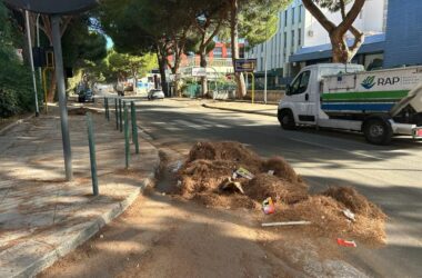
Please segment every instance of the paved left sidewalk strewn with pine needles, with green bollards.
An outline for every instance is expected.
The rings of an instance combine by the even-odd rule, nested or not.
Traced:
[[[100,196],[92,196],[86,117],[70,116],[74,179],[63,180],[60,119],[24,120],[0,136],[0,277],[31,277],[119,216],[150,183],[158,150],[140,138],[124,169],[124,138],[93,113]]]

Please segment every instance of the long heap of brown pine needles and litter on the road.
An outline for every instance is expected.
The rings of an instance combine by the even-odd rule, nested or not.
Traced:
[[[233,178],[239,168],[254,177]],[[308,185],[283,158],[264,160],[239,142],[197,143],[177,178],[179,195],[207,206],[258,209],[271,197],[277,212],[265,216],[265,222],[308,220],[312,225],[300,229],[310,235],[369,244],[385,240],[386,216],[355,189],[333,187],[311,196]],[[353,212],[354,219],[344,211]]]

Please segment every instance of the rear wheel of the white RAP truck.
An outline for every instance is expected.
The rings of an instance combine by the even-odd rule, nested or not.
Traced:
[[[389,145],[393,130],[385,118],[370,118],[363,123],[363,133],[368,142],[373,145]]]

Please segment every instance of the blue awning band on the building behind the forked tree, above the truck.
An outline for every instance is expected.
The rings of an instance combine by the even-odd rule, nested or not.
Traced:
[[[348,44],[352,46],[353,40],[348,40]],[[365,37],[365,41],[359,49],[358,53],[376,53],[383,52],[385,44],[385,33],[379,33]],[[332,57],[331,43],[320,44],[315,47],[301,48],[290,57],[290,62],[302,62],[309,60],[328,59]]]

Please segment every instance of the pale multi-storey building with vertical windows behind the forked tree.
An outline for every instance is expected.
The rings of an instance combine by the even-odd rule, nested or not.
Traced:
[[[366,36],[382,33],[385,29],[386,0],[366,0],[354,26]],[[348,8],[350,8],[349,4]],[[340,12],[323,10],[329,20],[341,22]],[[300,49],[330,43],[330,37],[316,19],[303,7],[301,0],[294,0],[284,11],[279,12],[277,33],[267,42],[252,48],[248,58],[258,60],[258,76],[262,77],[265,69],[269,75],[269,86],[285,83],[294,76],[301,64],[291,61],[291,57]],[[265,51],[267,49],[267,51]]]

